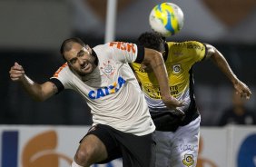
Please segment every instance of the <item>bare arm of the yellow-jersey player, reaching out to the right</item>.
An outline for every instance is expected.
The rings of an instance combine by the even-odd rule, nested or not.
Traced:
[[[237,93],[241,94],[241,97],[245,97],[246,99],[250,99],[251,90],[249,87],[242,83],[237,76],[232,72],[230,65],[228,64],[225,57],[222,55],[220,51],[218,51],[211,44],[206,44],[208,50],[208,56],[211,57],[212,61],[222,70],[222,73],[225,74],[231,83],[233,83],[234,89]]]

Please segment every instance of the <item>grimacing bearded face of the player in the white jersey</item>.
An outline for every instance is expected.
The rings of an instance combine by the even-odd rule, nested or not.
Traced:
[[[70,67],[80,75],[92,73],[96,66],[92,49],[88,45],[83,47],[81,44],[74,43],[70,51],[64,52],[64,58]]]

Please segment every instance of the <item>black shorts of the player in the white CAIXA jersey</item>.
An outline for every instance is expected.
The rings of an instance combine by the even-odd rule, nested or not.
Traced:
[[[123,167],[154,167],[154,133],[137,136],[123,133],[108,125],[97,124],[86,135],[89,134],[97,136],[104,143],[108,153],[107,159],[98,163],[107,163],[122,157]]]

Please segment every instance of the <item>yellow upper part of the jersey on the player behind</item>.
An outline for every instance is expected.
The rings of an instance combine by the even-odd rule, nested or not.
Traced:
[[[165,61],[172,96],[185,98],[183,93],[189,89],[192,65],[201,61],[205,54],[205,45],[196,41],[183,43],[168,42],[168,57]],[[160,87],[153,72],[145,73],[141,64],[132,64],[143,92],[153,99],[161,99]]]

